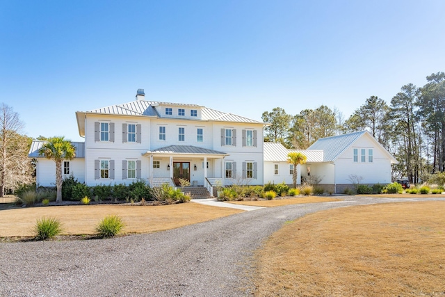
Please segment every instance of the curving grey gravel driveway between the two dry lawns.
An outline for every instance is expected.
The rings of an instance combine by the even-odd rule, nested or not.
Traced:
[[[248,296],[254,291],[252,254],[286,220],[396,201],[407,199],[351,196],[246,211],[154,234],[0,243],[0,296]]]

